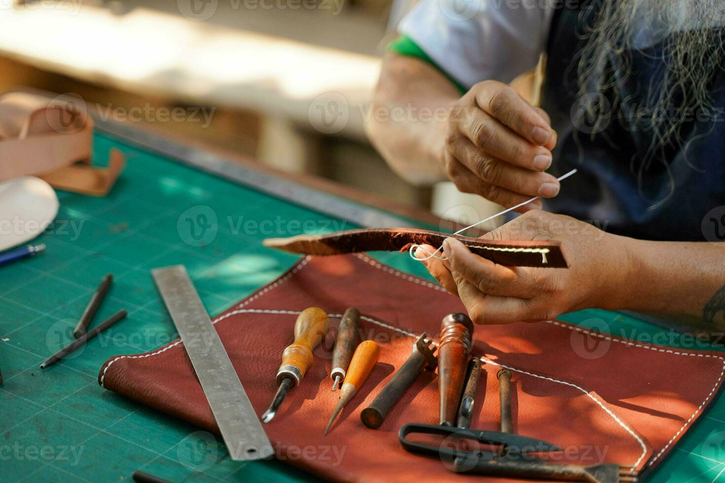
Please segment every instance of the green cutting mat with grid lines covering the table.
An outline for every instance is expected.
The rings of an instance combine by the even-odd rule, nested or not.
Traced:
[[[205,306],[218,314],[296,261],[262,247],[262,238],[299,232],[299,221],[312,231],[353,226],[334,226],[324,215],[107,135],[96,135],[95,159],[107,159],[114,146],[128,156],[128,165],[112,193],[107,198],[59,193],[58,221],[38,239],[46,243],[46,252],[0,268],[5,379],[0,385],[0,481],[129,481],[138,469],[174,482],[311,480],[278,461],[231,461],[221,440],[102,389],[96,377],[107,358],[152,350],[176,337],[150,269],[186,265]],[[198,246],[204,242],[210,243]],[[428,277],[405,255],[377,255],[386,264]],[[115,282],[94,323],[121,308],[128,318],[41,371],[41,361],[70,341],[72,327],[107,273],[115,274]],[[660,331],[603,311],[563,319],[601,329],[600,319],[616,331],[636,327],[640,337]],[[724,442],[721,400],[653,481],[725,482]]]

